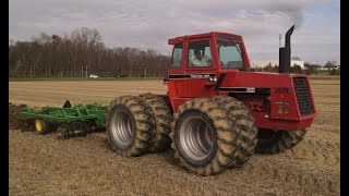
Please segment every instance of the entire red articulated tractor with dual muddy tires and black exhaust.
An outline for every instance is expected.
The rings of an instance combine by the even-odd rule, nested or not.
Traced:
[[[115,150],[141,156],[171,146],[180,166],[200,175],[241,167],[256,151],[296,146],[316,117],[306,75],[290,74],[290,36],[279,73],[250,68],[241,36],[212,32],[176,37],[164,79],[167,95],[111,101],[107,130]]]

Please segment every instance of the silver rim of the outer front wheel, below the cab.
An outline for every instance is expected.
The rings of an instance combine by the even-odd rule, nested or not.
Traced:
[[[208,123],[197,117],[186,119],[180,128],[180,144],[186,156],[204,160],[213,149],[213,134]]]

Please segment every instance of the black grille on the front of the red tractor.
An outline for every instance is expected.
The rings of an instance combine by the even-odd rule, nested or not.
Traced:
[[[313,105],[305,77],[293,77],[293,86],[301,115],[313,113]]]

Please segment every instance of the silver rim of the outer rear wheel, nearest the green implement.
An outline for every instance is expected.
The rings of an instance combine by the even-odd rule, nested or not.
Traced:
[[[134,125],[132,118],[125,111],[117,111],[111,119],[111,133],[115,140],[121,147],[132,144],[134,137]]]

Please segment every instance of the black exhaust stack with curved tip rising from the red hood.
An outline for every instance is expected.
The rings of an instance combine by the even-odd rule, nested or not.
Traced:
[[[285,47],[279,48],[279,73],[290,73],[291,66],[291,35],[294,25],[287,30],[285,36]]]

